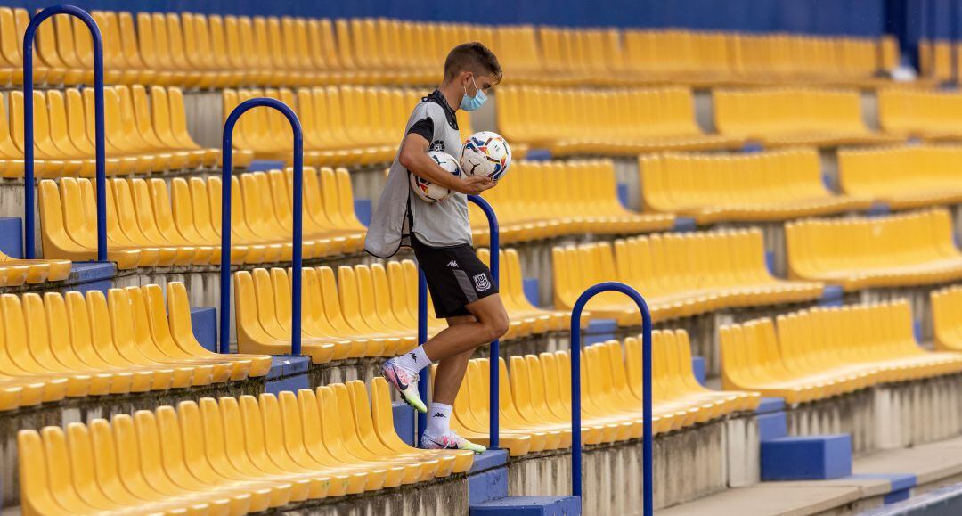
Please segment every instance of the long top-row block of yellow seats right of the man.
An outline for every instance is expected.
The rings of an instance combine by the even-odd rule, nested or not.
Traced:
[[[895,39],[625,30],[620,59],[655,77],[718,83],[866,84],[898,65]]]

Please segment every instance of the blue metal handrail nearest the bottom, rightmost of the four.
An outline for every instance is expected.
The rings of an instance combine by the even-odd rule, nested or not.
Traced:
[[[631,297],[642,311],[642,410],[645,419],[642,436],[642,474],[645,483],[642,513],[651,516],[654,511],[651,486],[651,312],[648,311],[645,297],[617,281],[606,281],[589,287],[578,297],[571,310],[571,491],[575,496],[581,496],[581,312],[592,297],[608,291]]]

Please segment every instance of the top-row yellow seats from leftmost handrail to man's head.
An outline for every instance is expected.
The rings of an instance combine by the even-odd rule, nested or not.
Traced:
[[[451,47],[482,40],[507,63],[532,62],[534,29],[387,18],[95,12],[105,61],[120,82],[197,88],[240,85],[429,84]],[[77,24],[74,24],[76,30]],[[58,24],[58,39],[70,27]],[[531,38],[525,38],[530,34]],[[63,36],[62,36],[63,35]],[[515,45],[527,52],[515,50]],[[64,48],[62,52],[70,52]],[[89,49],[83,49],[84,55]],[[57,62],[55,52],[46,60]]]

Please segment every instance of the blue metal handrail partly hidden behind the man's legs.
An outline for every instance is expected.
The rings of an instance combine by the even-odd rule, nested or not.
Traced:
[[[468,195],[468,200],[477,204],[481,211],[484,212],[485,217],[488,218],[488,230],[491,234],[491,242],[488,245],[491,254],[491,276],[494,279],[494,284],[498,285],[500,283],[500,270],[501,270],[501,240],[500,240],[500,230],[497,225],[497,216],[494,215],[494,208],[488,201],[484,200],[478,195]],[[427,342],[427,283],[424,280],[424,271],[418,267],[418,344],[424,344]],[[491,382],[491,392],[489,393],[489,415],[488,415],[488,425],[489,425],[489,442],[488,448],[495,449],[499,445],[498,440],[498,430],[499,430],[499,396],[500,396],[500,370],[498,364],[498,357],[500,356],[500,340],[495,339],[491,343],[491,367],[490,367],[490,382]],[[420,394],[421,400],[427,400],[427,374],[421,374],[418,378],[418,393]],[[420,436],[424,433],[424,428],[427,426],[427,418],[418,418],[418,441]]]

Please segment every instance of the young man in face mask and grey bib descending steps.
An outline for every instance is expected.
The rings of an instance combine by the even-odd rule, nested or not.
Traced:
[[[486,177],[454,176],[428,155],[428,150],[457,157],[461,138],[455,111],[473,111],[487,99],[486,91],[501,80],[494,53],[479,42],[454,47],[444,61],[441,86],[421,99],[408,119],[405,136],[388,174],[388,183],[367,229],[367,252],[392,256],[401,245],[414,247],[427,278],[434,312],[447,327],[422,346],[392,358],[381,374],[401,398],[428,414],[421,448],[484,452],[450,429],[451,405],[468,369],[474,348],[500,338],[508,330],[508,314],[497,294],[491,271],[471,246],[468,194],[493,188]],[[411,192],[408,174],[455,192],[429,203]],[[438,362],[430,410],[418,396],[418,374]]]

